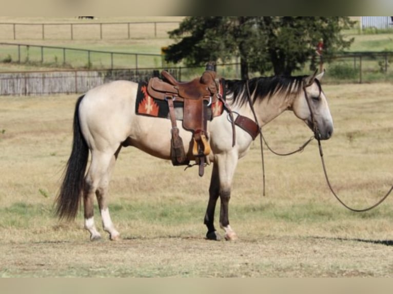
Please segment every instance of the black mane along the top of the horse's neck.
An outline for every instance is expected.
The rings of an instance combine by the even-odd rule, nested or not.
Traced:
[[[257,99],[270,98],[275,93],[285,93],[288,95],[294,86],[296,91],[302,90],[302,76],[270,76],[270,77],[254,77],[248,80],[250,94],[254,91],[253,103]],[[226,95],[232,95],[235,102],[240,105],[248,102],[246,80],[225,80]]]

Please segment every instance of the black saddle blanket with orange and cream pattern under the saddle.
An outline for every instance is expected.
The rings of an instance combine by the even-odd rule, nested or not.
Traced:
[[[220,82],[221,83],[221,82]],[[222,85],[222,83],[221,83]],[[223,91],[223,99],[225,100],[225,91]],[[206,104],[208,103],[207,101]],[[183,119],[183,102],[173,101],[173,106],[175,110],[176,119]],[[212,120],[215,116],[220,116],[224,111],[223,102],[217,100],[214,103],[211,103],[208,109],[208,119]],[[135,113],[138,115],[146,115],[153,117],[169,117],[169,107],[168,102],[161,99],[155,99],[148,95],[147,93],[147,82],[140,82],[138,84],[138,90],[136,95],[136,103],[135,103]]]

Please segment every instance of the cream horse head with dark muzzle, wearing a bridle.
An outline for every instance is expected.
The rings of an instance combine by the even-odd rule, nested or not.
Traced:
[[[293,112],[304,120],[308,127],[321,140],[327,140],[333,134],[333,119],[320,80],[324,72],[304,77],[302,91],[293,102]]]

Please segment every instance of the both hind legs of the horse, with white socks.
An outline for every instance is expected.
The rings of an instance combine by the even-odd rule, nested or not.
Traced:
[[[94,224],[93,203],[95,195],[97,195],[97,199],[99,201],[100,213],[104,215],[104,228],[108,229],[109,234],[111,234],[111,239],[117,239],[119,237],[119,233],[113,228],[105,200],[105,195],[108,191],[109,185],[110,168],[113,166],[114,161],[115,155],[110,152],[92,152],[91,164],[85,178],[84,189],[85,228],[90,232],[90,240],[97,240],[101,238],[101,235]]]

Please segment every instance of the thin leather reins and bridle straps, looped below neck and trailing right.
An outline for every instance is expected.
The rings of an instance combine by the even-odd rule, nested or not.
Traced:
[[[314,116],[313,111],[312,111],[312,108],[311,108],[311,103],[310,103],[310,101],[309,101],[309,97],[308,97],[307,91],[306,91],[306,88],[309,87],[309,86],[311,86],[312,83],[313,83],[313,80],[310,80],[310,82],[307,83],[307,85],[304,85],[304,86],[303,86],[303,92],[304,92],[304,96],[305,96],[306,101],[307,101],[308,109],[309,109],[309,111],[310,111],[310,116],[311,116],[311,121],[312,121],[312,130],[313,130],[314,136],[312,136],[310,139],[308,139],[302,146],[300,146],[299,149],[297,149],[297,150],[295,150],[295,151],[292,151],[292,152],[289,152],[289,153],[280,154],[280,153],[274,152],[274,151],[269,147],[269,145],[267,144],[265,138],[264,138],[263,135],[262,135],[262,127],[260,127],[259,122],[258,122],[258,119],[257,119],[257,115],[256,115],[256,113],[255,113],[255,111],[254,111],[253,103],[252,103],[252,101],[251,101],[250,89],[249,89],[249,86],[248,86],[248,80],[246,81],[248,102],[249,102],[249,104],[250,104],[251,112],[252,112],[252,114],[253,114],[253,116],[254,116],[255,122],[256,122],[256,124],[258,125],[259,133],[261,134],[260,142],[261,142],[262,172],[263,172],[263,196],[265,196],[265,167],[264,167],[262,140],[265,142],[267,148],[268,148],[272,153],[274,153],[274,154],[276,154],[276,155],[279,155],[279,156],[287,156],[287,155],[291,155],[291,154],[294,154],[294,153],[297,153],[297,152],[302,152],[302,151],[304,150],[304,148],[308,145],[308,143],[310,143],[310,142],[312,141],[313,138],[316,138],[316,139],[318,140],[319,154],[320,154],[320,157],[321,157],[323,172],[324,172],[324,174],[325,174],[326,183],[327,183],[327,185],[328,185],[328,187],[329,187],[331,193],[336,197],[336,199],[337,199],[345,208],[349,209],[349,210],[352,211],[352,212],[366,212],[366,211],[370,211],[371,209],[373,209],[373,208],[377,207],[378,205],[380,205],[380,204],[389,196],[389,194],[393,191],[393,185],[390,187],[389,191],[388,191],[388,192],[387,192],[387,193],[386,193],[377,203],[375,203],[374,205],[371,205],[371,206],[369,206],[369,207],[366,207],[366,208],[364,208],[364,209],[355,209],[355,208],[352,208],[352,207],[348,206],[347,204],[345,204],[345,203],[340,199],[340,197],[337,195],[337,193],[333,190],[333,188],[332,188],[332,186],[331,186],[331,184],[330,184],[330,181],[329,181],[329,177],[328,177],[328,175],[327,175],[326,166],[325,166],[325,160],[324,160],[324,158],[323,158],[323,150],[322,150],[320,132],[319,132],[319,130],[318,130],[318,124],[317,124],[317,122],[316,122],[316,120],[315,120],[315,116]],[[321,95],[321,92],[320,92],[320,95]]]

